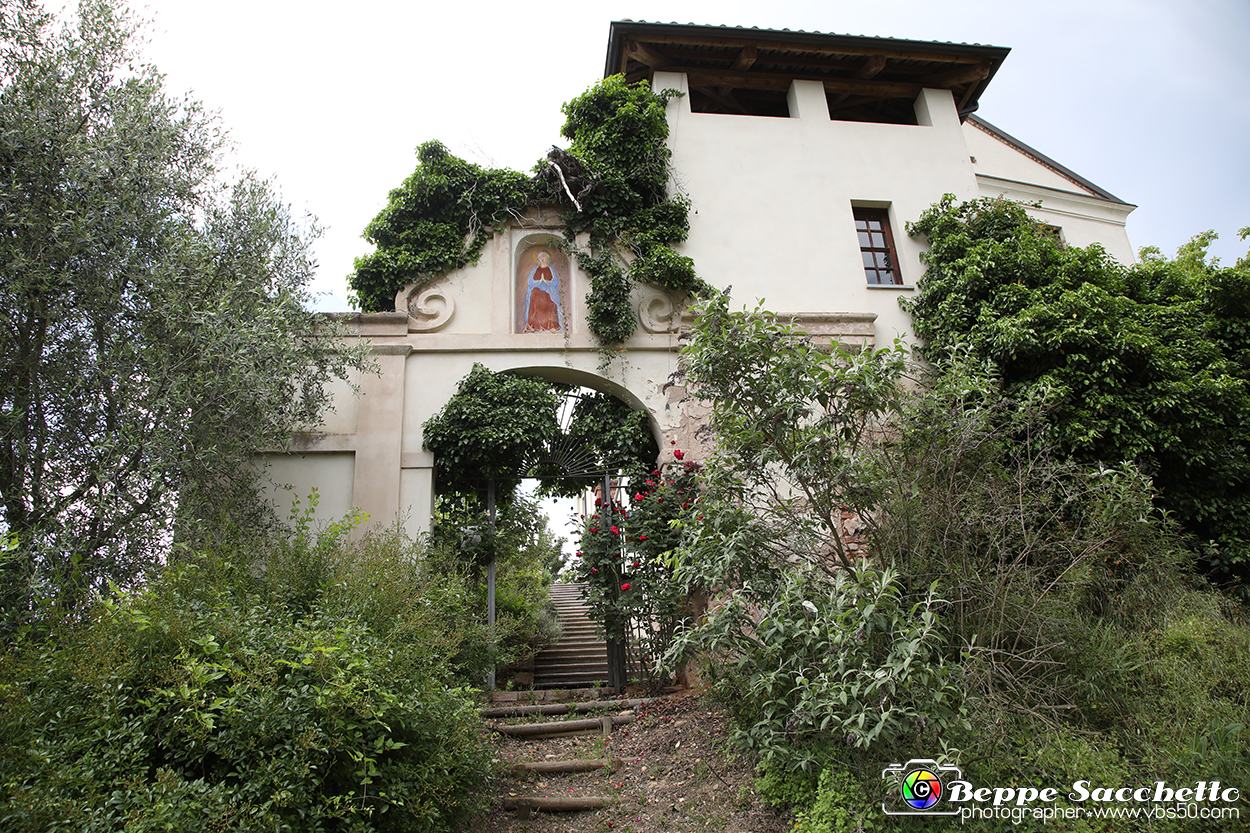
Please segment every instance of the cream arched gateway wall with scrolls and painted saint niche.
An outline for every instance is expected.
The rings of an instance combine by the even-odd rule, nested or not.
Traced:
[[[359,395],[344,385],[318,430],[298,434],[290,453],[269,455],[272,482],[292,487],[292,497],[316,487],[319,520],[360,508],[372,524],[426,532],[435,460],[421,425],[475,363],[612,394],[646,411],[661,449],[675,440],[698,454],[705,411],[671,381],[685,299],[636,288],[639,330],[605,350],[586,326],[589,278],[555,245],[560,231],[554,214],[531,213],[496,233],[476,264],[405,286],[395,311],[340,316],[369,340],[380,373],[355,380]],[[874,336],[871,313],[810,318],[835,338]],[[282,514],[284,497],[274,500]]]

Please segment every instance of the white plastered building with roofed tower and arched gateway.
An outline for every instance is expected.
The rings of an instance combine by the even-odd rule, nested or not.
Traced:
[[[898,301],[924,270],[924,241],[905,225],[944,194],[1031,203],[1061,240],[1132,261],[1132,205],[972,115],[1008,51],[615,23],[606,74],[681,93],[668,103],[691,205],[679,248],[704,281],[732,285],[740,304],[765,299],[816,338],[889,344],[908,336]],[[684,299],[635,286],[639,328],[605,356],[586,326],[588,276],[561,236],[554,211],[532,211],[476,264],[404,288],[395,311],[341,316],[381,373],[361,376],[359,395],[344,386],[321,425],[269,455],[272,479],[296,495],[318,487],[319,519],[359,507],[424,532],[434,460],[421,424],[474,363],[616,394],[648,411],[661,449],[676,440],[698,459],[702,413],[670,384]],[[281,513],[290,498],[274,497]]]

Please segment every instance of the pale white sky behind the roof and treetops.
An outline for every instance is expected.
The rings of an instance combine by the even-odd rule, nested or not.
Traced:
[[[1250,245],[1248,0],[135,3],[169,90],[220,111],[236,161],[325,226],[321,309],[346,309],[360,234],[419,144],[529,170],[626,18],[1009,46],[979,115],[1136,204],[1135,248]]]

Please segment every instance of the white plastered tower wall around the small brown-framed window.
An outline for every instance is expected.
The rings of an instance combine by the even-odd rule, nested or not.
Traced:
[[[656,89],[685,91],[684,74]],[[946,90],[918,98],[918,125],[834,121],[819,81],[794,81],[790,118],[691,113],[669,103],[678,185],[692,201],[682,251],[711,284],[776,311],[876,314],[876,343],[909,333],[898,300],[921,274],[921,245],[905,231],[952,193],[979,195],[955,104]],[[854,205],[888,208],[904,288],[869,286]]]

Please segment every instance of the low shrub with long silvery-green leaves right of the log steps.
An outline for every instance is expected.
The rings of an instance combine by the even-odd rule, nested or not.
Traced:
[[[729,592],[675,650],[706,652],[740,744],[764,764],[819,772],[830,745],[936,743],[965,723],[956,669],[940,658],[936,603],[905,602],[889,569],[830,578],[796,565],[766,590]]]

